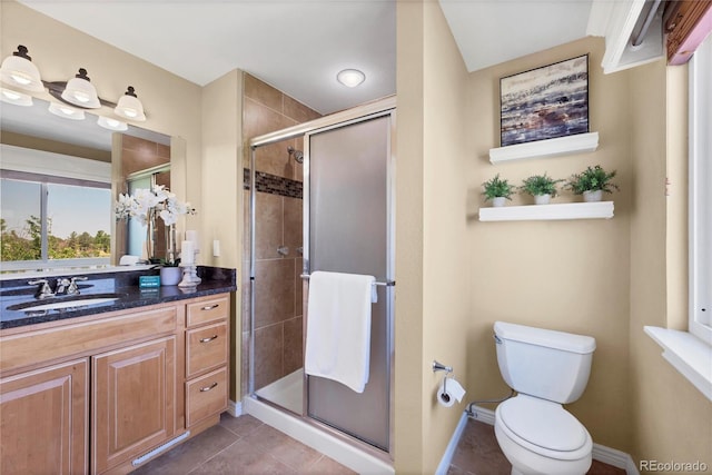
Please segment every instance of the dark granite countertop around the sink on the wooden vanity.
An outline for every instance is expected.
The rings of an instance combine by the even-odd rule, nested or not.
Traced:
[[[118,298],[95,305],[81,305],[81,300],[78,300],[77,306],[72,307],[31,311],[24,311],[22,309],[13,310],[11,308],[22,307],[23,304],[51,304],[72,299],[72,296],[57,296],[39,300],[34,297],[39,285],[28,284],[29,280],[33,280],[32,278],[23,277],[20,279],[2,280],[0,281],[0,329],[237,290],[237,273],[235,269],[207,266],[198,266],[198,277],[202,280],[196,287],[161,286],[158,288],[139,288],[139,276],[158,274],[158,269],[88,274],[86,276],[87,280],[77,283],[82,298],[89,298],[91,296],[111,296]],[[52,290],[56,289],[56,279],[57,277],[50,277],[48,279]]]

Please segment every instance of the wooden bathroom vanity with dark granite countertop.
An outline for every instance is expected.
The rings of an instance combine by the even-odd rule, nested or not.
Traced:
[[[0,473],[123,474],[219,422],[235,271],[201,270],[187,290],[89,277],[121,297],[52,310],[9,310],[34,297],[1,283]]]

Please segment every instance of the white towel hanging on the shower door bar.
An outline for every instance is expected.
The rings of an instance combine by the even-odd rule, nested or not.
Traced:
[[[315,271],[309,277],[304,370],[356,393],[368,383],[373,276]]]

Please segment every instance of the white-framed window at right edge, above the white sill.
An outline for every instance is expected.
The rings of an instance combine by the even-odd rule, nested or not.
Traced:
[[[712,345],[712,36],[690,61],[690,333]]]

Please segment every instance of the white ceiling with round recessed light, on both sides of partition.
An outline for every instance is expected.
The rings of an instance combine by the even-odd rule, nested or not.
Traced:
[[[320,113],[396,91],[394,0],[19,1],[199,86],[241,69]],[[591,1],[439,3],[474,71],[585,37]]]

